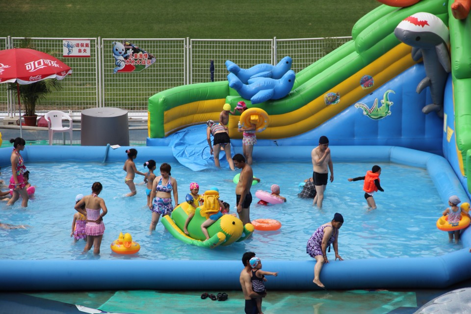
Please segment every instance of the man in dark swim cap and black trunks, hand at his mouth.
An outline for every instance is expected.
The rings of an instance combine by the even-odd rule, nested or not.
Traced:
[[[330,182],[334,181],[334,165],[332,164],[332,158],[330,156],[329,139],[327,136],[322,135],[319,138],[319,146],[313,149],[311,158],[313,160],[313,180],[316,192],[313,205],[317,205],[317,208],[321,209],[329,169]],[[329,169],[327,169],[327,167]]]

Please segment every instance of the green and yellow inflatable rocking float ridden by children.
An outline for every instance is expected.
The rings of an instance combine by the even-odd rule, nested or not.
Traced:
[[[214,248],[219,245],[230,245],[248,238],[254,232],[252,224],[242,225],[242,221],[233,215],[222,215],[216,222],[208,227],[209,240],[206,240],[201,224],[210,215],[219,211],[219,192],[215,190],[206,191],[204,194],[204,205],[198,207],[195,215],[188,224],[188,233],[185,235],[183,227],[188,217],[188,203],[183,202],[172,211],[172,215],[162,217],[162,224],[177,239],[197,246]]]

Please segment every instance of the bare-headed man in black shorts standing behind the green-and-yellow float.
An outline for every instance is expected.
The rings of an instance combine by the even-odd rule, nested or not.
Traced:
[[[242,169],[240,171],[239,182],[235,186],[235,199],[239,219],[242,220],[242,225],[245,225],[250,223],[250,204],[252,204],[250,187],[254,180],[254,173],[252,167],[245,163],[245,158],[242,155],[235,154],[232,160],[234,160],[235,167]]]

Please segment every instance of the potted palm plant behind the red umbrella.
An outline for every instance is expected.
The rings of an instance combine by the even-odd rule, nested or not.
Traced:
[[[18,48],[29,48],[36,49],[31,42],[31,38],[24,38]],[[47,51],[48,54],[55,54],[54,51]],[[8,90],[12,90],[18,97],[18,91],[20,92],[20,98],[25,109],[23,117],[25,118],[26,126],[36,126],[36,105],[45,99],[46,96],[52,93],[54,90],[58,91],[62,89],[60,82],[55,78],[48,78],[40,80],[31,84],[18,85],[16,83],[9,83]]]

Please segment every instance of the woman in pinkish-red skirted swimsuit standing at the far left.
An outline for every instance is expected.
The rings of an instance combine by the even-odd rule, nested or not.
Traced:
[[[23,174],[26,171],[25,164],[23,163],[23,157],[20,154],[20,151],[25,149],[26,141],[17,137],[15,139],[10,139],[10,143],[13,143],[13,152],[11,153],[11,178],[9,188],[12,191],[12,196],[8,201],[8,205],[15,204],[16,201],[21,197],[22,207],[28,207],[28,192],[26,191],[26,182],[23,178]]]

